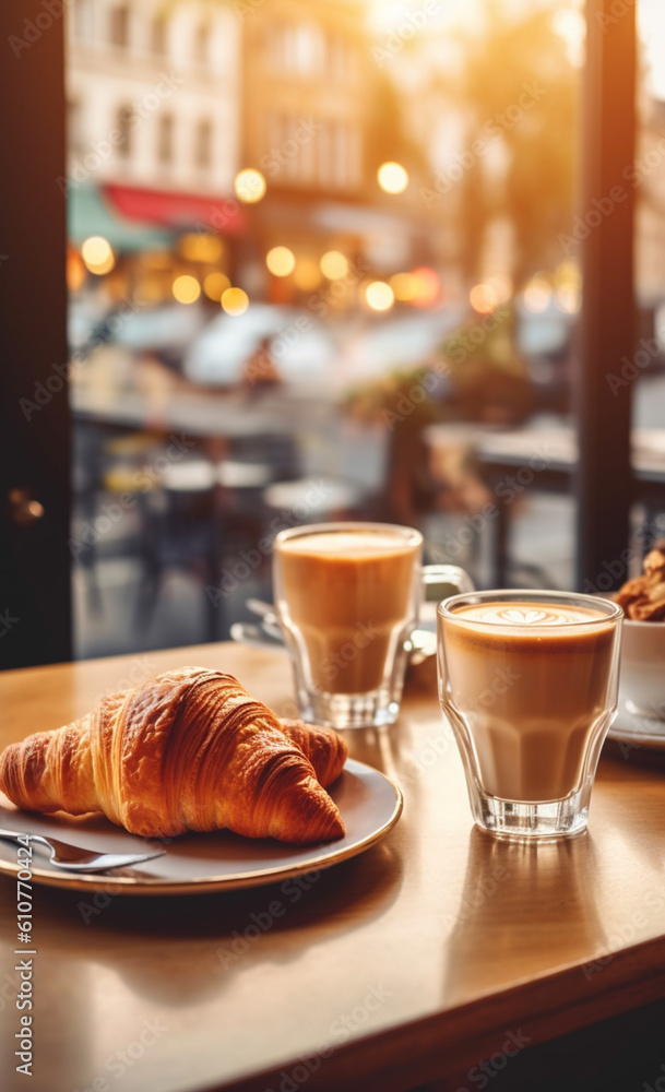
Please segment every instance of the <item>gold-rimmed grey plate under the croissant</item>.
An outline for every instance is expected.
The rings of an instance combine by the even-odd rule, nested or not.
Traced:
[[[302,873],[329,868],[378,842],[402,814],[402,793],[378,770],[348,759],[330,795],[340,808],[346,835],[323,845],[292,846],[273,839],[241,838],[230,831],[183,834],[166,845],[162,857],[134,868],[83,875],[55,868],[48,850],[33,846],[36,883],[104,891],[108,894],[202,894],[206,891],[258,887]],[[39,816],[13,808],[0,794],[0,826],[33,834],[52,834],[64,842],[106,853],[140,852],[145,842],[115,827],[103,816]],[[154,844],[154,843],[152,843]],[[19,846],[0,840],[0,873],[17,873]]]

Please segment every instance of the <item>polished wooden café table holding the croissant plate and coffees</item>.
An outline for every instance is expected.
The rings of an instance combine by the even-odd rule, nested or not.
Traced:
[[[277,713],[293,710],[282,651],[205,645],[1,674],[0,744],[188,663],[233,672]],[[427,688],[393,728],[349,743],[401,784],[404,814],[382,843],[299,893],[274,885],[95,906],[35,888],[33,1092],[390,1092],[444,1075],[437,1088],[456,1092],[483,1088],[473,1067],[492,1058],[492,1090],[534,1088],[518,1075],[536,1044],[665,997],[663,762],[608,745],[589,832],[523,846],[472,828]],[[252,928],[275,900],[285,913]],[[13,878],[0,877],[0,904],[2,1087],[24,1089]]]

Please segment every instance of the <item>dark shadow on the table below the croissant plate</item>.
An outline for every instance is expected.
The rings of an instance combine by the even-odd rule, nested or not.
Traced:
[[[290,964],[336,934],[384,914],[403,876],[394,846],[382,843],[334,868],[225,893],[133,898],[39,888],[49,934],[43,959],[76,953],[108,966],[139,995],[164,1005],[199,1004],[227,989],[238,973]],[[12,880],[0,883],[11,912]],[[294,939],[289,939],[289,935]],[[86,987],[88,988],[88,987]],[[83,998],[81,998],[83,1004]]]

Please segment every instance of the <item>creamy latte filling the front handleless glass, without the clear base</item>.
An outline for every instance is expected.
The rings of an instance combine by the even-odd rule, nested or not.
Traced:
[[[462,604],[441,630],[443,704],[482,788],[503,800],[575,793],[606,724],[616,621],[544,600]]]

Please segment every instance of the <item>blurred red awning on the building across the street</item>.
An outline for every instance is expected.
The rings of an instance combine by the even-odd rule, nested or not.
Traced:
[[[115,209],[128,219],[181,230],[203,227],[219,235],[242,235],[247,226],[242,205],[236,198],[205,198],[198,193],[144,190],[133,186],[104,186]]]

